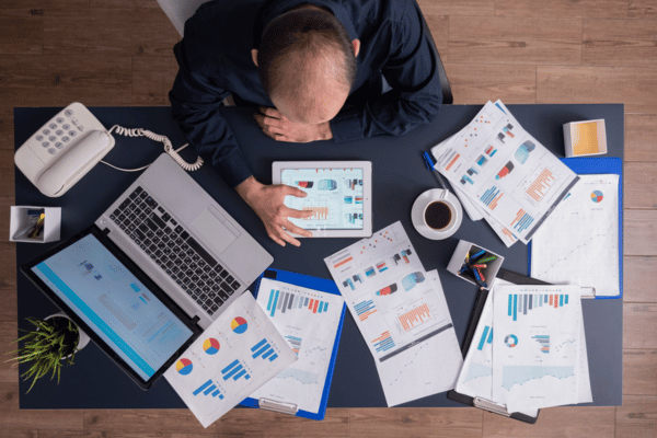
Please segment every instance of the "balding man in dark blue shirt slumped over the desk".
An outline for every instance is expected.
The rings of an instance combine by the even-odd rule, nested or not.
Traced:
[[[243,155],[249,145],[238,143],[221,116],[223,101],[256,108],[255,123],[281,142],[402,135],[438,114],[434,50],[414,0],[215,0],[185,23],[169,97],[189,142],[267,234],[298,246],[286,230],[312,233],[289,218],[312,211],[290,209],[284,198],[306,193],[255,180]]]

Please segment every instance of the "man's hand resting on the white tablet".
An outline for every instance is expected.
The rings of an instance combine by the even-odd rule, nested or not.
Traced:
[[[311,217],[313,212],[293,210],[286,207],[283,203],[285,197],[289,195],[304,198],[307,194],[302,189],[283,184],[264,185],[258,183],[253,176],[247,177],[243,183],[238,185],[235,189],[261,218],[269,238],[280,246],[285,246],[285,242],[291,243],[295,246],[301,245],[301,243],[288,234],[286,230],[299,235],[312,238],[310,231],[295,226],[288,218],[306,219]]]

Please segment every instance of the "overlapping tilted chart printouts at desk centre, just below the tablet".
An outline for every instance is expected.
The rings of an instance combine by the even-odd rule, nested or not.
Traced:
[[[462,365],[437,273],[401,222],[324,258],[379,371],[389,406],[453,388]]]

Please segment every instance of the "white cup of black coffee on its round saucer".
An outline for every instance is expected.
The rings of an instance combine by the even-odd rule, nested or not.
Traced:
[[[411,220],[418,233],[427,239],[447,239],[457,232],[463,220],[461,203],[443,188],[426,191],[417,197]]]

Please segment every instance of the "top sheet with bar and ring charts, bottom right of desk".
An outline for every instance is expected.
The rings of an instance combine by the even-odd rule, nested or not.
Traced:
[[[493,399],[509,412],[579,402],[580,299],[578,286],[495,289]]]

